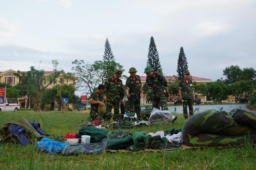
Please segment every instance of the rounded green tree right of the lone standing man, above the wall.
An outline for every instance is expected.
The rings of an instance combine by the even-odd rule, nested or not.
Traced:
[[[206,87],[212,100],[217,100],[220,103],[221,100],[227,99],[227,85],[225,83],[221,81],[207,82]]]

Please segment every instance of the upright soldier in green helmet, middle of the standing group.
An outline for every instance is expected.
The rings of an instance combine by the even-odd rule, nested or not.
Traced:
[[[136,75],[137,70],[134,67],[129,69],[130,77],[125,83],[125,92],[128,98],[126,110],[128,113],[135,112],[137,117],[141,118],[141,100],[140,94],[142,92],[141,77]]]

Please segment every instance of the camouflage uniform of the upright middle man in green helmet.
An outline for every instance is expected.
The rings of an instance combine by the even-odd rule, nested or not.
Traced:
[[[127,78],[125,83],[125,89],[129,90],[130,97],[128,97],[128,103],[126,110],[135,112],[140,117],[141,112],[141,100],[140,100],[140,87],[142,86],[141,77],[135,76],[133,79],[131,76]]]

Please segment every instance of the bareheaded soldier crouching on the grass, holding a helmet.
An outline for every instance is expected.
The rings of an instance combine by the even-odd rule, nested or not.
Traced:
[[[92,92],[91,96],[88,99],[88,102],[91,104],[90,121],[100,120],[101,122],[103,122],[104,119],[109,121],[112,117],[111,113],[106,112],[106,107],[102,95],[104,93],[104,89],[105,86],[103,84],[99,84],[97,90],[95,92]],[[105,107],[105,113],[99,114],[99,106]]]

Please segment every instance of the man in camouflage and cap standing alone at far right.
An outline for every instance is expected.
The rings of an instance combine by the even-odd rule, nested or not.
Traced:
[[[189,116],[193,116],[193,101],[195,100],[195,92],[193,82],[189,80],[190,73],[186,71],[184,74],[184,79],[179,83],[179,94],[180,99],[183,101],[183,116],[185,119],[188,118],[187,116],[187,105],[189,109]]]

